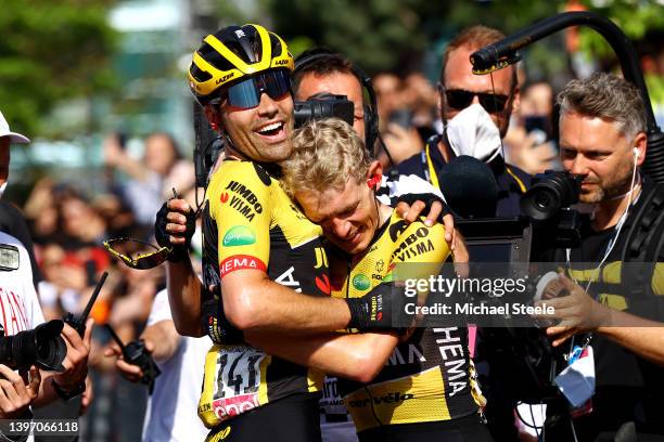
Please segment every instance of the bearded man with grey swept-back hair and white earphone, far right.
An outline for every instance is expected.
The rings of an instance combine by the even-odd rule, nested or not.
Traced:
[[[567,276],[560,276],[560,285],[569,294],[547,300],[556,308],[553,316],[562,320],[547,334],[565,353],[574,348],[591,350],[597,387],[591,407],[576,410],[573,420],[564,399],[549,404],[546,435],[556,441],[575,437],[593,441],[613,440],[618,430],[631,431],[629,440],[636,440],[636,432],[639,437],[664,434],[664,332],[639,328],[656,325],[652,320],[662,321],[657,296],[664,295],[663,222],[656,204],[664,186],[639,168],[647,151],[643,103],[628,81],[595,74],[567,83],[558,104],[562,165],[584,177],[579,200],[592,208],[592,216],[582,227],[578,247],[552,253],[556,262],[567,264]],[[653,222],[643,223],[648,218]],[[633,232],[643,225],[660,234],[638,245],[639,251],[647,250],[646,257],[653,256],[650,263],[641,259],[644,283],[640,287],[630,282],[629,272],[616,269],[628,265],[625,257],[634,244]],[[640,295],[635,291],[639,288],[643,289]]]

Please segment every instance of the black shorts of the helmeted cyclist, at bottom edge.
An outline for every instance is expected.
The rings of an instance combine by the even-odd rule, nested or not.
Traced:
[[[293,394],[213,428],[206,442],[320,442],[320,393]]]

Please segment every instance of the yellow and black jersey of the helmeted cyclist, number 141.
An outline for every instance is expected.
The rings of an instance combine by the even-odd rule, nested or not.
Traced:
[[[199,415],[212,428],[245,411],[320,389],[322,375],[246,344],[224,317],[220,282],[256,269],[312,296],[329,296],[321,230],[292,204],[265,168],[226,160],[213,176],[203,213],[203,300],[214,347],[205,361]],[[205,291],[204,291],[205,292]],[[222,326],[221,326],[222,325]]]

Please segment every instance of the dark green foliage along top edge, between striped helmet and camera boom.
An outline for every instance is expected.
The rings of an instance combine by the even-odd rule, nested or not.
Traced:
[[[261,23],[282,36],[294,55],[314,44],[325,46],[368,73],[408,67],[462,27],[482,23],[509,32],[554,14],[558,8],[545,0],[258,0],[254,4],[247,10],[220,1],[219,17],[224,24],[269,17]],[[541,60],[548,62],[546,56]]]

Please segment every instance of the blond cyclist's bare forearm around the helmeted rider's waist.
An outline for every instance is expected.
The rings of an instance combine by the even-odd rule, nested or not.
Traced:
[[[395,335],[379,333],[292,337],[248,332],[244,338],[269,354],[359,382],[371,381],[398,343]]]

